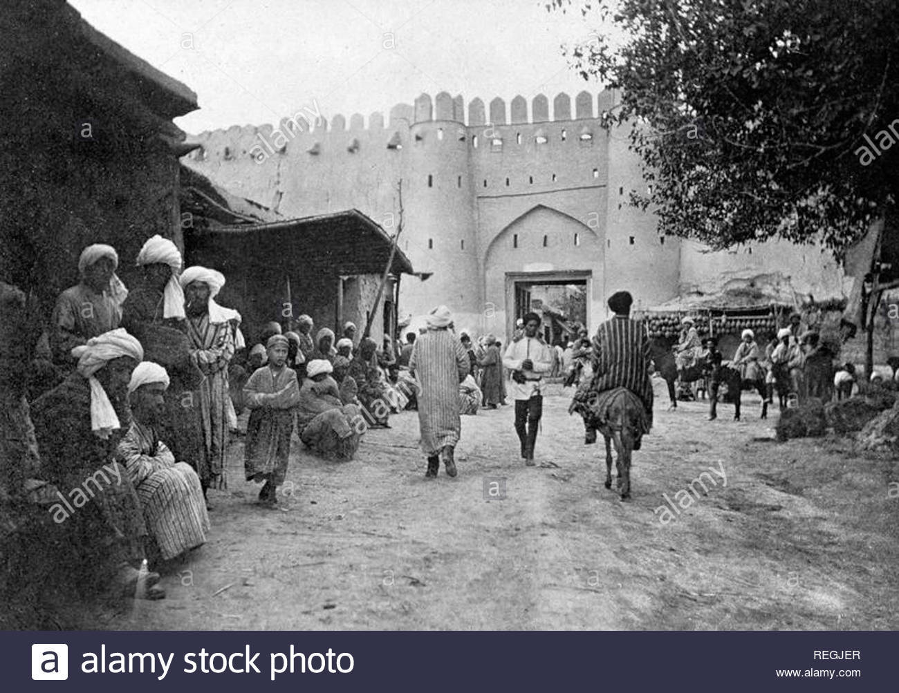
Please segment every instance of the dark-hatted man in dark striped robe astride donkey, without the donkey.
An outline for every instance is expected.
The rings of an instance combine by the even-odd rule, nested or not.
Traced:
[[[651,346],[643,321],[630,319],[632,303],[634,299],[627,291],[619,291],[610,297],[609,307],[615,316],[596,330],[592,342],[592,381],[578,387],[570,411],[578,410],[579,405],[588,402],[591,393],[627,388],[643,402],[648,430],[653,422],[653,382],[649,377]],[[595,443],[596,429],[587,418],[584,425],[584,443]],[[639,437],[635,443],[634,450],[639,450]]]

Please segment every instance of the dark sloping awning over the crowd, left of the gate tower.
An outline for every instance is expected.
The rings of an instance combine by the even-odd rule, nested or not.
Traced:
[[[305,216],[264,224],[239,224],[186,230],[190,262],[208,263],[225,272],[289,268],[303,274],[379,275],[387,268],[393,240],[359,210]],[[390,271],[413,274],[412,263],[396,249]]]

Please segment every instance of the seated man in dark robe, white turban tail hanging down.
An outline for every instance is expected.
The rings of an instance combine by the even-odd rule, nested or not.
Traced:
[[[124,329],[113,329],[76,346],[76,372],[31,404],[42,475],[59,489],[50,507],[66,523],[78,573],[135,596],[147,527],[128,472],[115,461],[127,421],[128,383],[144,350]],[[160,599],[165,591],[147,575],[138,597]]]

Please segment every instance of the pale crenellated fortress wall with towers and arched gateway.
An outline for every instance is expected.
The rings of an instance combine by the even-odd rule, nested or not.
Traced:
[[[396,231],[402,179],[400,248],[416,271],[433,275],[425,282],[405,277],[401,315],[447,303],[458,324],[472,329],[495,310],[486,305],[504,311],[504,273],[527,268],[590,269],[591,329],[606,319],[606,298],[619,289],[648,306],[681,291],[714,290],[721,276],[742,280],[762,267],[794,277],[799,291],[826,294],[841,283],[832,261],[788,243],[709,255],[695,243],[662,240],[654,215],[628,204],[630,190],[646,186],[638,157],[628,151],[628,127],[601,127],[618,98],[607,90],[595,104],[593,94],[580,92],[574,99],[539,94],[530,103],[516,96],[466,106],[460,95],[441,92],[397,104],[387,118],[335,115],[311,123],[301,110],[275,126],[192,136],[203,148],[185,163],[285,217],[356,208],[388,233]],[[503,246],[512,236],[498,237],[516,220],[512,233],[519,232],[521,245],[512,252]],[[586,228],[574,246],[577,224]],[[526,248],[528,262],[521,260]]]

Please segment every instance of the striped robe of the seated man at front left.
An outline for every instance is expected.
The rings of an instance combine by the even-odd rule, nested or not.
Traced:
[[[117,457],[138,492],[144,521],[163,560],[206,543],[209,513],[200,478],[191,465],[175,462],[152,426],[131,424]]]

